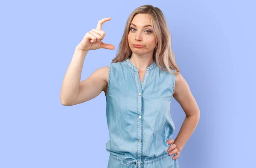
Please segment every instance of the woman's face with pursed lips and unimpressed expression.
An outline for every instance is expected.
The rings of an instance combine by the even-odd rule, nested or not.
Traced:
[[[149,14],[136,14],[134,16],[130,25],[128,43],[133,53],[153,54],[156,47],[156,38]],[[139,47],[136,44],[143,46]]]

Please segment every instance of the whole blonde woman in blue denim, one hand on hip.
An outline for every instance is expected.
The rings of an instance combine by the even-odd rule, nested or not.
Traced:
[[[140,6],[129,16],[116,57],[80,82],[89,50],[115,49],[102,39],[102,24],[76,47],[61,88],[61,103],[75,105],[105,92],[110,140],[108,168],[178,168],[186,141],[199,120],[199,108],[175,62],[171,35],[159,8]],[[170,115],[172,97],[186,114],[176,139]]]

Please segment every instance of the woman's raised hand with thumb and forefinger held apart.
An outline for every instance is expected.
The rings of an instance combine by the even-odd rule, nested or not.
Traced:
[[[86,50],[86,51],[97,50],[99,48],[105,48],[110,50],[115,49],[114,45],[105,44],[102,42],[106,34],[105,31],[102,31],[102,24],[109,20],[111,20],[111,17],[107,17],[107,18],[103,18],[102,20],[99,20],[96,29],[92,29],[91,31],[87,32],[84,35],[84,38],[79,43],[79,48],[81,50]]]

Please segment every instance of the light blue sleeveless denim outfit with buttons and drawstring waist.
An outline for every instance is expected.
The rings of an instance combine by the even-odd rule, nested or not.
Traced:
[[[108,168],[179,168],[166,142],[175,131],[170,114],[175,79],[155,61],[147,67],[142,83],[130,58],[109,65]]]

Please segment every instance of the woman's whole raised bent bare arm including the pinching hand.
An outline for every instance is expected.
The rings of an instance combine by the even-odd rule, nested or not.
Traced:
[[[110,17],[99,20],[96,29],[87,32],[76,47],[62,83],[61,104],[67,106],[80,104],[95,98],[103,90],[104,92],[107,91],[108,67],[99,68],[84,81],[80,82],[80,80],[84,59],[89,50],[115,49],[115,46],[102,42],[106,34],[105,31],[101,30],[102,24],[109,20],[111,20]]]

